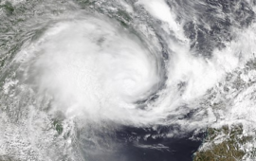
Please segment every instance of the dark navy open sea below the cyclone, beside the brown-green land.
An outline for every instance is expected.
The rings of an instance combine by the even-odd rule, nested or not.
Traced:
[[[122,127],[111,138],[119,143],[115,152],[89,154],[87,158],[90,161],[192,161],[193,152],[202,144],[204,134],[197,134],[197,139],[193,140],[193,133],[168,137],[174,129]]]

